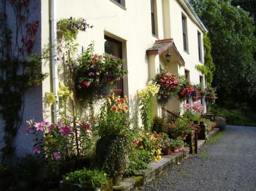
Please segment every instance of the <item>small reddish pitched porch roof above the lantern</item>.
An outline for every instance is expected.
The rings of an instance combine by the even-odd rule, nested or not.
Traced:
[[[146,53],[147,55],[161,55],[161,53],[163,53],[167,49],[171,50],[171,56],[173,57],[174,54],[175,58],[177,58],[177,62],[179,62],[180,65],[185,66],[185,61],[177,50],[173,39],[156,40],[154,45],[146,50]]]

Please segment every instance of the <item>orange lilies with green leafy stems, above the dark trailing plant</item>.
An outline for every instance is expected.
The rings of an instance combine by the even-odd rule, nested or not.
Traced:
[[[114,93],[106,98],[98,117],[97,128],[99,136],[129,134],[130,123],[126,114],[129,110],[127,102],[127,97],[115,97]]]

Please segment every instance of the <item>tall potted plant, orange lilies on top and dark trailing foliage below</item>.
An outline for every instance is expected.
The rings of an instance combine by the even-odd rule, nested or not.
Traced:
[[[127,97],[107,97],[101,107],[98,122],[100,136],[96,144],[96,164],[113,177],[113,184],[118,185],[129,165],[128,152],[130,142]]]

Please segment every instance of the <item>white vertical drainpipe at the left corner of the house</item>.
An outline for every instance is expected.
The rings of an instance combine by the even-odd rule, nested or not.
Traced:
[[[52,47],[52,91],[57,96],[59,80],[57,65],[57,20],[56,1],[51,0],[51,47]],[[58,100],[57,100],[58,101]],[[54,104],[54,122],[57,122],[58,104]]]

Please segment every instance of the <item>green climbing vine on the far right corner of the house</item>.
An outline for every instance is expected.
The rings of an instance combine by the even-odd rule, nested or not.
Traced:
[[[211,87],[211,82],[213,82],[213,72],[215,71],[215,65],[213,63],[213,58],[211,56],[211,41],[208,35],[204,34],[204,65],[196,65],[196,69],[205,75],[208,87]]]

